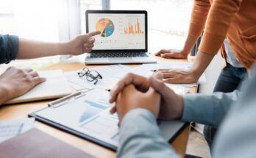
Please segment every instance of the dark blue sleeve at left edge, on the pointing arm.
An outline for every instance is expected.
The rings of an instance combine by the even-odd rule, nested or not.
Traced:
[[[18,54],[18,36],[0,35],[0,64],[15,60]]]

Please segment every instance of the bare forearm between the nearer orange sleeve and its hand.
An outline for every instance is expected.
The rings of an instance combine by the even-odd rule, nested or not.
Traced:
[[[198,51],[196,54],[196,60],[193,62],[193,66],[191,68],[193,76],[196,80],[204,73],[207,66],[213,60],[214,54],[203,53],[202,51]]]

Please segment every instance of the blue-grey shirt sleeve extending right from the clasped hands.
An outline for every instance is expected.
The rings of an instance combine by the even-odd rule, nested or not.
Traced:
[[[182,121],[218,126],[232,104],[238,100],[239,93],[235,90],[232,93],[184,95]]]

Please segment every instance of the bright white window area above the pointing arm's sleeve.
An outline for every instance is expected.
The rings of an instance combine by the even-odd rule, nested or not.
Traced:
[[[6,3],[4,6],[8,7]],[[57,6],[57,1],[51,0],[13,0],[9,3],[9,7],[13,8],[13,16],[0,15],[0,32],[2,35],[58,41]]]

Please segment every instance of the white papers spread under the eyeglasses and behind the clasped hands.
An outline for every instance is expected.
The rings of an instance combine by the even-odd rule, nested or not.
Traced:
[[[99,79],[99,82],[94,85],[94,82],[89,82],[85,77],[79,77],[79,71],[69,71],[64,73],[68,79],[69,85],[75,90],[85,90],[88,88],[101,87],[104,89],[112,89],[115,84],[122,79],[127,73],[135,73],[141,76],[149,77],[154,73],[153,70],[160,68],[174,68],[174,69],[191,69],[193,63],[191,62],[158,62],[155,64],[143,64],[135,68],[130,68],[126,65],[110,65],[101,68],[91,68],[90,71],[98,71],[103,79]],[[166,84],[175,93],[184,94],[188,93],[189,87],[196,86],[206,82],[205,74],[203,74],[199,82],[192,84]]]

